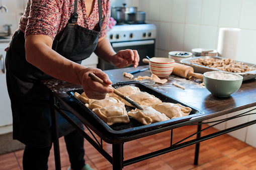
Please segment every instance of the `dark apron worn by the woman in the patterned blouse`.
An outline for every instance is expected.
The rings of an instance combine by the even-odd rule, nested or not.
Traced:
[[[77,0],[65,29],[56,36],[52,49],[65,58],[80,63],[95,51],[104,18],[98,0],[99,25],[96,31],[76,24]],[[6,57],[7,86],[13,112],[13,137],[26,145],[45,147],[52,143],[49,93],[40,80],[52,79],[26,61],[24,33],[18,31],[12,39]],[[71,71],[71,70],[70,70]],[[66,112],[76,123],[82,123]],[[74,128],[58,113],[59,136]]]

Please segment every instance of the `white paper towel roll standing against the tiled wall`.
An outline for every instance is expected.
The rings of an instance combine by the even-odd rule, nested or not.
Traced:
[[[236,59],[241,29],[220,28],[218,40],[219,56]]]

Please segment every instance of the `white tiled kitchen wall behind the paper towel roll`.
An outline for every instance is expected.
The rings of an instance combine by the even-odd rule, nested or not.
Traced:
[[[120,0],[112,0],[113,3]],[[156,56],[193,48],[217,49],[219,29],[240,28],[237,60],[256,64],[254,0],[123,0],[157,27]]]

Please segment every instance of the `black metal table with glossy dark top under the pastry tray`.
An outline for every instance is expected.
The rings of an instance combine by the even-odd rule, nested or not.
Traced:
[[[144,67],[148,67],[148,66],[139,66],[137,69],[142,69]],[[120,69],[120,70],[109,70],[109,71],[105,71],[109,76],[110,79],[112,80],[113,83],[116,82],[123,82],[123,81],[127,81],[126,78],[124,78],[123,75],[121,75],[120,73],[122,72],[130,72],[130,71],[134,71],[134,68],[124,68],[124,69]],[[141,75],[141,74],[140,74]],[[141,76],[150,76],[151,73],[150,71],[144,71],[143,75]],[[136,75],[134,76],[136,77]],[[173,77],[169,77],[169,78],[173,78]],[[169,79],[168,78],[168,79]],[[168,82],[173,81],[172,80],[168,80]],[[168,82],[166,83],[168,85]],[[118,135],[109,135],[108,132],[106,130],[104,130],[104,128],[99,128],[100,124],[99,122],[97,122],[95,119],[93,119],[92,117],[87,117],[84,114],[82,114],[82,110],[79,109],[79,105],[72,101],[72,99],[70,98],[70,96],[68,96],[67,94],[60,94],[57,91],[59,89],[61,89],[63,91],[63,89],[65,91],[68,91],[70,89],[80,89],[81,86],[79,85],[74,85],[71,83],[67,83],[67,82],[63,82],[60,80],[43,80],[42,83],[46,86],[46,88],[48,88],[49,93],[50,93],[50,102],[51,102],[51,115],[52,115],[52,125],[53,125],[53,144],[54,144],[54,154],[55,154],[55,166],[56,169],[61,169],[61,165],[60,165],[60,155],[59,155],[59,143],[58,143],[58,131],[57,131],[57,123],[56,123],[56,112],[58,111],[76,130],[78,130],[81,135],[86,138],[110,163],[112,163],[113,165],[113,169],[122,169],[124,166],[148,159],[148,158],[152,158],[154,156],[158,156],[164,153],[168,153],[180,148],[184,148],[186,146],[189,145],[193,145],[196,144],[195,147],[195,160],[194,160],[194,164],[198,164],[198,156],[199,156],[199,147],[200,147],[200,142],[201,141],[205,141],[207,139],[211,139],[214,137],[217,137],[219,135],[225,134],[225,133],[229,133],[231,131],[252,125],[256,123],[256,120],[252,120],[243,124],[239,124],[236,125],[234,127],[230,127],[228,129],[225,130],[221,130],[212,134],[208,134],[205,136],[201,136],[201,130],[202,130],[202,125],[200,124],[200,122],[204,121],[204,120],[208,120],[214,117],[218,117],[221,115],[225,115],[228,113],[232,113],[235,111],[239,111],[239,110],[243,110],[246,108],[250,108],[250,107],[254,107],[256,106],[256,80],[249,80],[246,82],[243,82],[241,88],[234,94],[232,95],[231,98],[228,99],[219,99],[216,98],[214,96],[212,96],[209,91],[207,91],[206,89],[195,89],[195,88],[191,88],[188,90],[183,91],[184,96],[189,96],[191,93],[196,93],[197,94],[197,98],[196,98],[196,102],[195,100],[191,100],[188,98],[182,98],[179,95],[179,90],[175,89],[172,91],[168,91],[168,93],[170,92],[172,94],[172,97],[179,99],[180,101],[183,101],[185,103],[188,104],[193,104],[195,105],[195,107],[197,107],[198,109],[203,110],[206,114],[203,116],[199,116],[199,117],[194,117],[188,121],[184,121],[184,122],[179,122],[176,124],[172,124],[172,125],[168,125],[168,126],[163,126],[160,128],[152,128],[152,129],[147,129],[144,131],[138,131],[135,132],[133,134],[129,134],[127,136],[118,136]],[[59,88],[59,87],[55,87],[56,84],[60,84],[63,87]],[[58,86],[58,85],[57,85]],[[155,86],[155,85],[154,85]],[[157,86],[155,86],[157,87]],[[168,88],[165,88],[165,90],[169,90]],[[177,94],[176,94],[177,92]],[[180,98],[179,98],[180,97]],[[57,101],[57,102],[56,102]],[[203,104],[201,104],[203,102]],[[90,137],[90,135],[88,135],[86,132],[84,132],[78,125],[76,125],[76,123],[74,123],[59,107],[59,103],[63,104],[72,114],[74,114],[79,120],[82,121],[82,123],[89,129],[90,132],[94,132],[95,134],[97,134],[101,139],[100,141],[98,141],[96,139],[95,136]],[[213,104],[214,103],[214,104]],[[219,107],[219,105],[223,105],[223,107]],[[199,107],[198,107],[199,106]],[[229,120],[229,119],[227,119]],[[227,120],[223,120],[223,121],[227,121]],[[199,123],[198,123],[199,122]],[[98,123],[98,124],[97,124]],[[192,140],[187,140],[187,141],[181,141],[180,143],[173,143],[173,130],[178,128],[178,127],[182,127],[182,126],[187,126],[187,125],[197,125],[197,133],[195,135],[197,135],[197,137],[195,139]],[[170,145],[166,148],[157,150],[157,151],[153,151],[141,156],[137,156],[137,157],[133,157],[131,159],[128,160],[124,160],[124,156],[123,156],[123,144],[127,141],[132,141],[138,138],[142,138],[142,137],[146,137],[149,135],[153,135],[156,133],[160,133],[160,132],[164,132],[170,130]],[[102,141],[105,141],[107,143],[112,144],[112,156],[107,153],[104,149],[103,149],[103,143]]]

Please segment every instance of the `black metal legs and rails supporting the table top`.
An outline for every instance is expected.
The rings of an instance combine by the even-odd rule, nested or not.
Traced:
[[[63,112],[59,105],[56,104],[56,98],[51,95],[50,97],[50,101],[51,101],[51,115],[52,115],[52,125],[53,125],[53,144],[54,144],[54,156],[55,156],[55,167],[56,169],[61,169],[61,165],[60,165],[60,153],[59,153],[59,142],[58,142],[58,129],[57,129],[57,111],[84,137],[86,138],[110,163],[112,163],[113,165],[113,169],[122,169],[124,166],[127,166],[127,165],[130,165],[130,164],[133,164],[133,163],[136,163],[136,162],[139,162],[139,161],[142,161],[142,160],[145,160],[145,159],[148,159],[148,158],[152,158],[152,157],[155,157],[155,156],[159,156],[161,154],[164,154],[164,153],[168,153],[168,152],[171,152],[171,151],[175,151],[177,149],[181,149],[181,148],[184,148],[184,147],[187,147],[189,145],[193,145],[193,144],[196,144],[196,148],[195,148],[195,160],[194,160],[194,164],[197,165],[198,164],[198,157],[199,157],[199,148],[200,148],[200,142],[202,141],[205,141],[207,139],[211,139],[211,138],[214,138],[214,137],[217,137],[219,135],[222,135],[222,134],[225,134],[225,133],[229,133],[231,131],[234,131],[234,130],[238,130],[240,128],[243,128],[243,127],[246,127],[246,126],[249,126],[249,125],[252,125],[252,124],[255,124],[256,123],[256,120],[252,120],[250,122],[247,122],[247,123],[243,123],[243,124],[240,124],[240,125],[237,125],[237,126],[234,126],[234,127],[231,127],[231,128],[228,128],[228,129],[225,129],[225,130],[221,130],[221,131],[218,131],[218,132],[215,132],[215,133],[212,133],[212,134],[209,134],[209,135],[206,135],[206,136],[202,136],[201,137],[201,130],[202,130],[202,125],[201,124],[198,124],[198,128],[197,128],[197,138],[196,139],[193,139],[193,140],[189,140],[189,141],[186,141],[186,142],[183,142],[183,143],[178,143],[178,144],[173,144],[173,129],[170,129],[171,130],[171,134],[170,134],[170,146],[169,147],[166,147],[164,149],[160,149],[160,150],[157,150],[157,151],[153,151],[151,153],[147,153],[147,154],[144,154],[144,155],[141,155],[141,156],[137,156],[137,157],[134,157],[134,158],[131,158],[131,159],[128,159],[128,160],[123,160],[123,144],[124,142],[121,142],[121,143],[113,143],[112,144],[112,153],[113,153],[113,156],[111,156],[109,153],[107,153],[104,149],[103,149],[103,144],[102,144],[102,139],[101,141],[98,141],[96,139],[96,137],[94,136],[94,134],[92,133],[92,131],[90,130],[90,128],[86,125],[86,127],[89,129],[89,131],[91,132],[91,134],[93,135],[94,139],[92,137],[90,137],[86,132],[84,132],[83,129],[81,129],[72,119],[70,119],[66,114],[65,112]],[[73,112],[73,110],[70,110],[71,112]],[[78,114],[78,113],[76,113]],[[81,117],[78,117],[81,121],[84,121],[83,118]],[[225,120],[226,121],[226,120]],[[195,119],[195,120],[189,120],[190,124],[186,123],[186,125],[191,125],[193,123],[196,123],[196,122],[201,122],[200,118],[199,120],[198,119]],[[182,123],[184,124],[184,123]],[[166,127],[166,130],[169,130],[168,127]],[[155,129],[155,130],[152,130],[150,131],[150,133],[158,133],[158,132],[161,132],[161,131],[165,131],[165,129]]]

